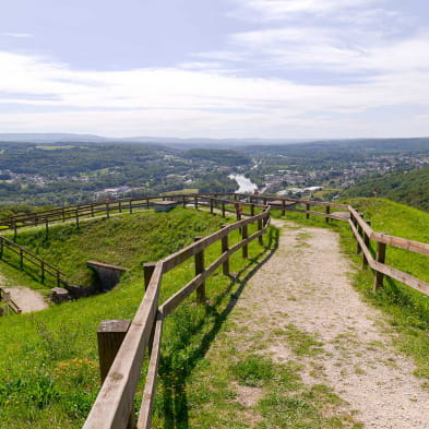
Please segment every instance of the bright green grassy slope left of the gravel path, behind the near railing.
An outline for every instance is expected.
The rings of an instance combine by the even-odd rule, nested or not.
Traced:
[[[0,428],[75,428],[88,413],[98,389],[96,330],[105,319],[132,319],[143,297],[141,263],[157,260],[206,235],[225,222],[216,215],[176,208],[168,214],[143,213],[51,228],[21,235],[21,242],[40,252],[52,250],[52,263],[83,278],[83,261],[90,258],[119,263],[131,270],[112,291],[75,302],[51,307],[34,314],[0,320]],[[184,227],[186,226],[186,227]],[[184,233],[183,233],[184,230]],[[251,234],[253,229],[249,233]],[[56,240],[53,240],[56,238]],[[233,245],[238,234],[230,238]],[[91,241],[92,245],[85,245]],[[231,270],[251,270],[265,252],[251,243],[250,259],[231,259]],[[206,251],[206,263],[221,253],[218,243]],[[193,277],[189,261],[168,273],[162,298]],[[178,382],[186,380],[200,361],[223,324],[225,309],[239,284],[217,273],[206,283],[208,301],[195,306],[188,300],[166,322],[160,371]],[[171,374],[171,376],[168,376]],[[172,376],[175,374],[175,376]],[[168,391],[162,391],[168,403]],[[168,416],[165,407],[162,415]]]

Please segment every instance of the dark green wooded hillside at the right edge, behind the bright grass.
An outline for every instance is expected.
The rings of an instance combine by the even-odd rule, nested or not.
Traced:
[[[386,198],[429,212],[429,166],[409,172],[390,172],[360,179],[343,196]]]

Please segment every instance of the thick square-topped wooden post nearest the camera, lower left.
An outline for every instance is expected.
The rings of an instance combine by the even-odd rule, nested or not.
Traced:
[[[129,320],[104,320],[97,330],[98,359],[102,384],[104,383],[111,364],[130,329]],[[131,409],[128,429],[135,428],[134,407]]]

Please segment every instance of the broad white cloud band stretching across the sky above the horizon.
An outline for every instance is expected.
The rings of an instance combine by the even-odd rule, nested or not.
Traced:
[[[342,135],[353,135],[354,121],[338,118],[367,109],[428,106],[429,74],[402,71],[361,84],[308,85],[179,68],[80,71],[38,57],[0,52],[1,92],[8,94],[0,99],[3,104],[41,109],[39,114],[0,115],[3,132],[315,138],[322,130],[325,136],[341,130]],[[60,111],[44,112],[46,106]],[[418,123],[413,131],[429,134],[429,124]],[[329,126],[332,133],[326,135]],[[374,134],[379,124],[371,126]],[[400,126],[395,123],[389,132]],[[362,135],[366,127],[356,135]]]

